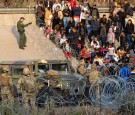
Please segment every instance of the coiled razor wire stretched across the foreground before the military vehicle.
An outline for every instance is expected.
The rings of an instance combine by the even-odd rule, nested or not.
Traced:
[[[97,112],[98,110],[98,113],[103,112],[103,114],[107,111],[120,112],[125,115],[135,113],[135,82],[125,81],[119,76],[102,76],[89,85],[83,80],[67,81],[63,85],[63,87],[66,87],[63,90],[46,86],[35,100],[37,111],[43,110],[42,113],[44,113],[61,109],[66,113],[67,109],[73,107],[76,108],[77,112],[77,110],[81,110],[80,108],[88,106],[88,108],[93,108],[90,109],[91,112]],[[88,94],[86,94],[86,86],[88,87]],[[19,97],[16,99],[19,100]],[[39,99],[42,103],[39,103]],[[16,115],[25,111],[23,99],[20,104],[18,101],[14,103],[12,106],[8,104],[0,105],[0,108],[4,107]],[[6,109],[0,109],[0,112]],[[90,110],[87,110],[87,112],[90,113]],[[29,114],[29,112],[27,113]]]

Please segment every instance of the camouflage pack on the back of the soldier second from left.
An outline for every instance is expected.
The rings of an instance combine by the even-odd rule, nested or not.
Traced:
[[[36,84],[35,84],[35,80],[31,80],[31,79],[24,79],[24,90],[28,93],[34,93],[36,91]]]

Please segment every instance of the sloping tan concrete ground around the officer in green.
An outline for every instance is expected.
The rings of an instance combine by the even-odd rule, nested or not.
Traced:
[[[8,24],[6,24],[6,21],[3,21],[3,23],[2,19],[0,19],[0,61],[65,59],[63,52],[56,48],[50,40],[45,38],[43,31],[35,24],[26,28],[28,39],[26,49],[19,49],[19,34],[16,29],[15,20],[12,21],[15,17],[12,16],[10,18],[11,23]]]

